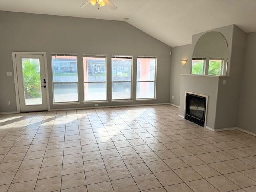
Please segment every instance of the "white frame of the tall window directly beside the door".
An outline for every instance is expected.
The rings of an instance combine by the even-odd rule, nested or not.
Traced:
[[[76,67],[77,67],[77,82],[54,82],[53,80],[53,71],[52,71],[52,56],[75,56],[76,57]],[[79,78],[78,78],[78,62],[77,62],[77,54],[76,53],[51,53],[51,75],[52,75],[52,101],[53,105],[62,105],[62,104],[80,104],[79,102]],[[54,97],[54,83],[76,83],[77,84],[77,101],[60,101],[60,102],[55,102],[55,97]]]

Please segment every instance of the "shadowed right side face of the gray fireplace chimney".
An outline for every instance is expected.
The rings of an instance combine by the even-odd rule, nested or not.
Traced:
[[[216,129],[237,126],[245,48],[246,33],[234,26],[232,47],[230,48],[230,78],[226,78],[226,85],[223,85],[223,81],[219,82]]]

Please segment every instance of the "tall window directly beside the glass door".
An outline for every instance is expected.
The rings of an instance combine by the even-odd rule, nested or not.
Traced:
[[[52,54],[54,103],[78,101],[76,55]]]

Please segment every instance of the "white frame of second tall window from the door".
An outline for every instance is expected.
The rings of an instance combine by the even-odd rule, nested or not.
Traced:
[[[105,76],[105,79],[106,79],[106,81],[92,81],[92,82],[85,82],[84,81],[84,57],[90,57],[90,56],[92,56],[92,57],[100,57],[100,56],[102,56],[102,57],[105,57],[105,68],[106,68],[106,76]],[[82,64],[82,68],[83,68],[83,100],[84,100],[84,103],[95,103],[95,102],[108,102],[108,84],[107,84],[107,82],[108,82],[108,79],[107,79],[107,55],[104,55],[104,54],[83,54],[82,55],[82,60],[83,60],[83,64]],[[105,86],[106,86],[106,100],[85,100],[85,96],[84,96],[84,84],[85,83],[105,83]]]

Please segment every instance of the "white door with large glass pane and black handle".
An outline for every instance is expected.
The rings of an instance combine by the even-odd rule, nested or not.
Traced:
[[[44,54],[15,54],[20,111],[47,110]]]

